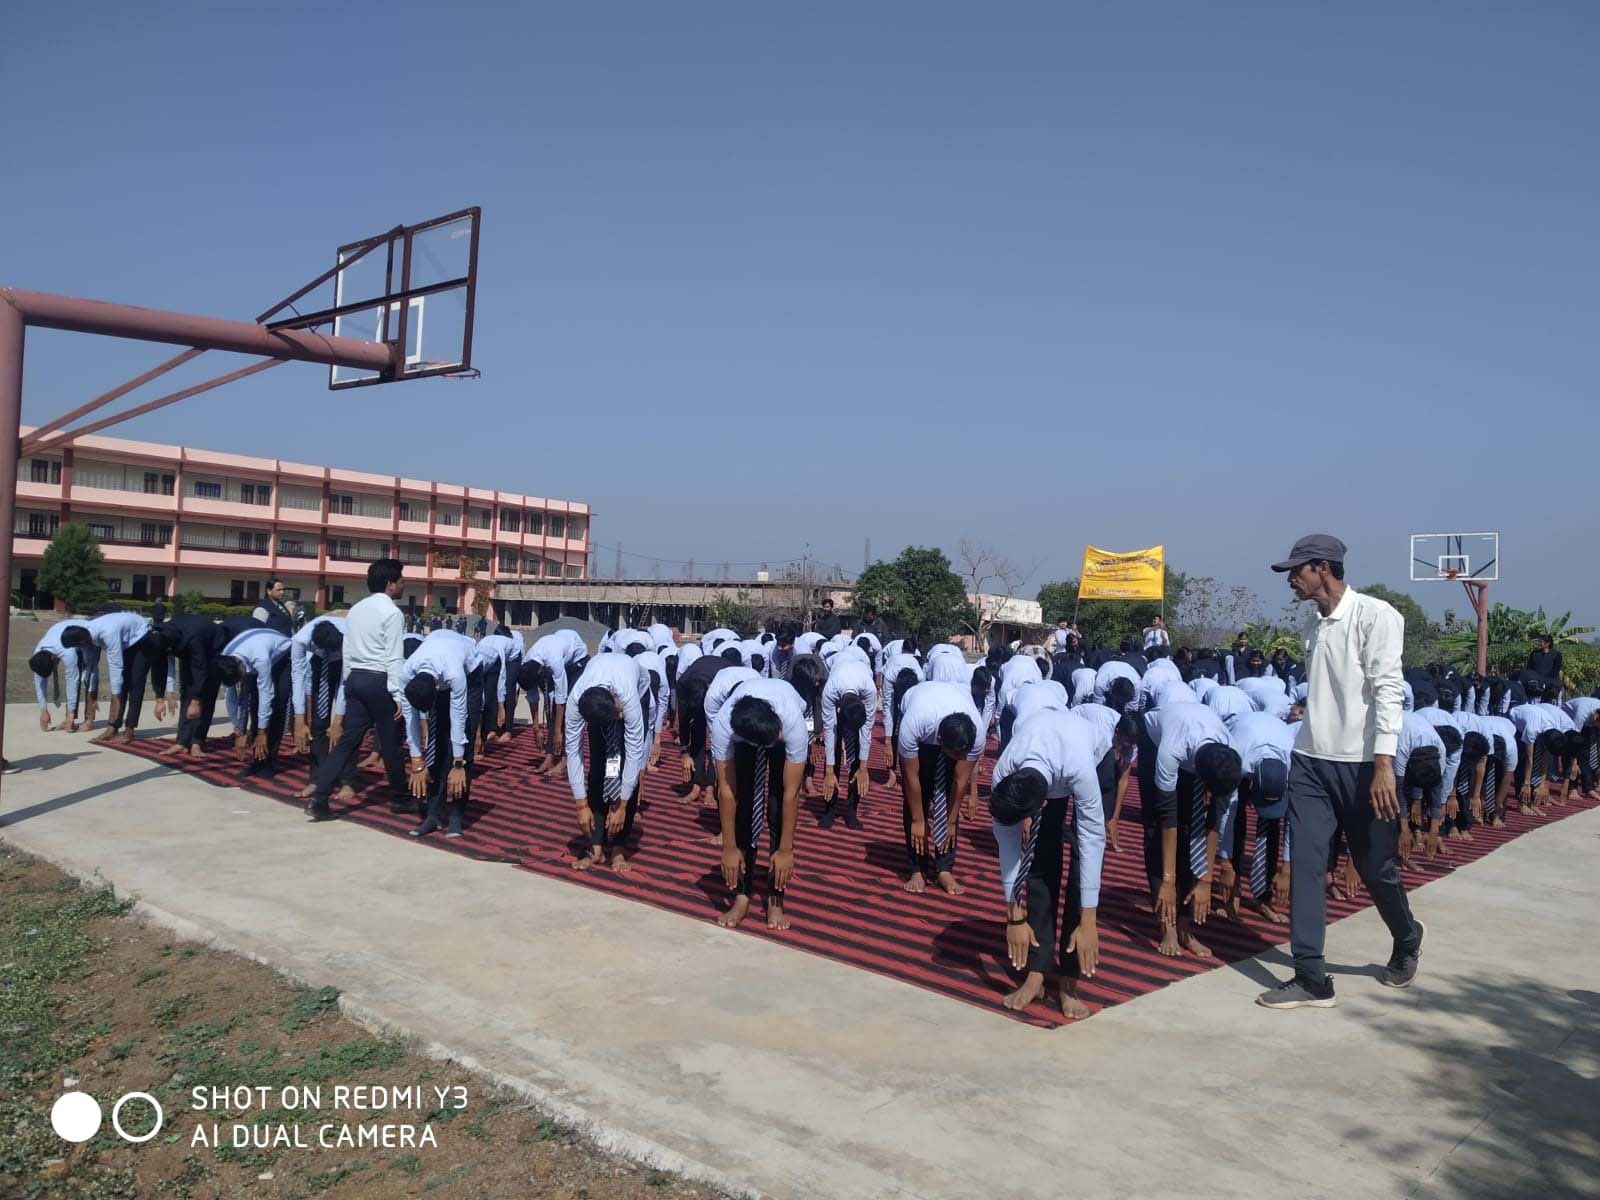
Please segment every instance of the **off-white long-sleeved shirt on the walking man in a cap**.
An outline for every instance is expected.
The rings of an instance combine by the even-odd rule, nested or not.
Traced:
[[[1306,720],[1294,750],[1341,763],[1392,755],[1400,738],[1400,651],[1405,619],[1346,587],[1317,618],[1306,654]]]

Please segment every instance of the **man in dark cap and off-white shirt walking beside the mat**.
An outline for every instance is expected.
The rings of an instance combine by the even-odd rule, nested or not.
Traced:
[[[1264,1008],[1333,1008],[1323,962],[1328,933],[1328,850],[1342,827],[1366,891],[1389,926],[1394,950],[1378,976],[1408,987],[1422,950],[1422,923],[1411,915],[1400,878],[1400,797],[1395,749],[1405,688],[1400,651],[1405,621],[1376,597],[1344,582],[1344,542],[1314,533],[1272,565],[1286,573],[1296,600],[1317,605],[1306,654],[1306,720],[1290,762],[1290,950],[1294,976],[1262,992]]]

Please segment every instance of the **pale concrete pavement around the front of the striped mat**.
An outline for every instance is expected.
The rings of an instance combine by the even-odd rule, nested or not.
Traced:
[[[1416,893],[1418,984],[1371,910],[1339,1008],[1285,957],[1038,1030],[782,946],[40,734],[0,837],[179,928],[334,984],[603,1141],[773,1197],[1600,1195],[1600,811]]]

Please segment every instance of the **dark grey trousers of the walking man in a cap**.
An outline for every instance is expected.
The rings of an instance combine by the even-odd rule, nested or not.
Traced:
[[[1414,947],[1421,930],[1400,880],[1400,821],[1373,813],[1373,765],[1339,763],[1294,754],[1290,760],[1290,950],[1294,971],[1322,981],[1328,970],[1322,949],[1328,934],[1328,846],[1334,826],[1344,827],[1350,861],[1366,885],[1378,915],[1397,944]]]

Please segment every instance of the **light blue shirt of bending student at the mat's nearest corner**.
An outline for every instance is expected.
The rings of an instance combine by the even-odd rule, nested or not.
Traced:
[[[995,763],[995,782],[1024,768],[1045,776],[1050,798],[1072,797],[1074,837],[1078,848],[1078,902],[1085,909],[1099,906],[1101,864],[1106,858],[1106,813],[1101,806],[1099,760],[1094,754],[1093,730],[1066,712],[1038,712],[1011,731]],[[1035,818],[1037,819],[1037,818]],[[1022,822],[994,822],[1000,850],[1000,890],[1006,901],[1016,894],[1016,877],[1022,861]]]

